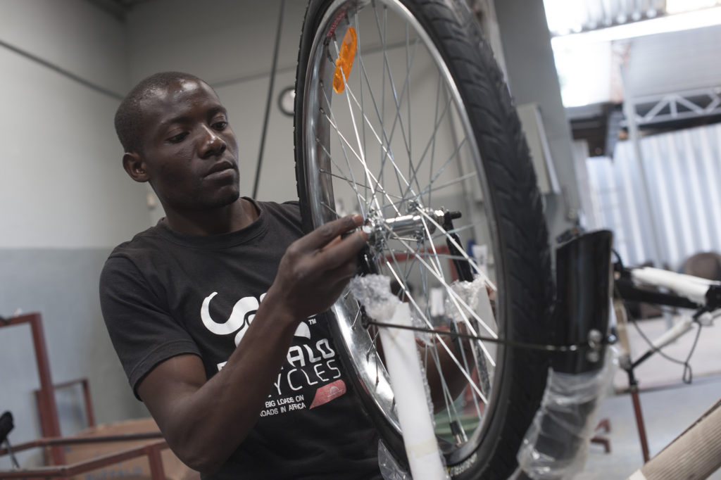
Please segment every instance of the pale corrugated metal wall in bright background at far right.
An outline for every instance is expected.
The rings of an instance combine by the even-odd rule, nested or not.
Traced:
[[[620,142],[613,160],[586,161],[598,205],[591,227],[614,231],[627,265],[658,258],[679,270],[691,254],[721,252],[721,125],[642,138],[640,147],[650,210],[633,145]]]

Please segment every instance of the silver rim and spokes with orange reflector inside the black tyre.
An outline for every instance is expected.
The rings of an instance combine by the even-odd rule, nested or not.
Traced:
[[[459,349],[448,335],[457,328],[497,339],[505,313],[497,316],[492,304],[489,314],[485,298],[476,307],[475,295],[486,292],[454,280],[459,261],[479,270],[480,262],[462,246],[494,245],[489,226],[495,217],[489,203],[472,196],[485,195],[486,184],[469,118],[443,65],[446,52],[413,16],[416,8],[398,0],[332,0],[319,6],[302,92],[306,110],[298,115],[306,130],[301,143],[306,191],[314,196],[308,202],[311,222],[317,227],[360,212],[376,232],[366,266],[392,281],[413,323],[423,329],[417,341],[423,365],[438,372],[433,398],[443,413],[436,417],[436,433],[446,440],[442,448],[448,454],[479,445],[479,429],[496,398],[489,378],[497,373],[494,342],[469,338]],[[456,210],[460,216],[446,216]],[[479,282],[496,279],[495,262],[488,265],[489,274]],[[482,284],[469,288],[476,285]],[[379,327],[367,324],[360,303],[347,293],[334,306],[335,341],[355,364],[359,391],[377,401],[380,414],[397,428]]]

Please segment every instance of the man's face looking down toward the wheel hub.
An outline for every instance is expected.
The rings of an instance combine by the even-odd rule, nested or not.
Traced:
[[[206,210],[239,197],[238,144],[210,86],[181,80],[141,102],[141,157],[163,204]]]

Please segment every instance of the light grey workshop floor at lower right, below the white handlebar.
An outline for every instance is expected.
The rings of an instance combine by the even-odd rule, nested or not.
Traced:
[[[650,338],[658,337],[666,328],[664,319],[645,320],[640,328]],[[633,357],[645,352],[645,342],[635,329],[629,331]],[[668,355],[685,359],[694,342],[695,331],[687,333],[675,344],[664,349]],[[721,399],[721,325],[702,329],[698,345],[691,357],[694,377],[691,384],[681,381],[683,367],[654,355],[635,370],[641,393],[640,402],[653,457],[691,422]],[[627,479],[642,466],[642,453],[633,412],[631,396],[622,393],[628,377],[619,371],[614,378],[617,393],[606,397],[598,409],[598,419],[609,419],[611,432],[600,433],[610,440],[611,453],[603,445],[592,443],[588,461],[579,480]],[[721,471],[709,477],[721,480]]]

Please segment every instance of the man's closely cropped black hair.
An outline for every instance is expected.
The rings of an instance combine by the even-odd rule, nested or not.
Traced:
[[[120,102],[115,112],[115,133],[118,133],[120,144],[126,152],[138,152],[142,148],[143,112],[140,105],[143,99],[149,97],[154,89],[167,88],[181,80],[203,81],[195,75],[180,71],[162,71],[138,82]]]

